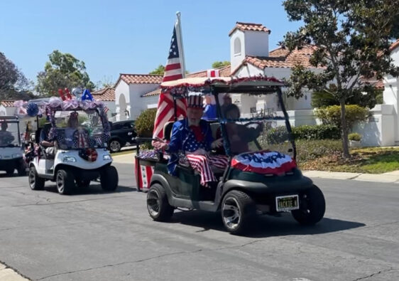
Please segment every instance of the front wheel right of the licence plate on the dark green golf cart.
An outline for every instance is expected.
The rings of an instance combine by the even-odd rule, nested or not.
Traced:
[[[300,196],[300,208],[291,211],[295,220],[305,226],[312,226],[318,223],[326,211],[326,201],[322,191],[313,186]]]

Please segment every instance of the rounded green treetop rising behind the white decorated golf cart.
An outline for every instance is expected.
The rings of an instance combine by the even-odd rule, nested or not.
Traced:
[[[58,50],[48,55],[50,61],[45,63],[44,71],[38,73],[36,90],[45,96],[57,95],[58,89],[87,88],[94,89],[90,81],[84,62],[70,53],[61,53]]]

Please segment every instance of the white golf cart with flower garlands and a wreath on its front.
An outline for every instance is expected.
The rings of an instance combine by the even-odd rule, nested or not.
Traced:
[[[23,107],[29,116],[45,115],[50,121],[35,132],[38,149],[29,163],[31,189],[43,189],[45,181],[50,180],[55,181],[60,194],[70,194],[76,187],[87,187],[99,178],[102,189],[116,190],[118,172],[111,166],[112,158],[106,149],[109,122],[102,102],[51,97],[30,101]],[[34,110],[29,113],[29,108]],[[45,147],[42,141],[46,136],[54,141],[54,147]]]

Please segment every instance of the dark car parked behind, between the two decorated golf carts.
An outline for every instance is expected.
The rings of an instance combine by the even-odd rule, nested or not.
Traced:
[[[137,136],[134,120],[126,120],[111,123],[111,138],[108,147],[111,152],[119,152],[122,147],[135,144],[133,140]]]

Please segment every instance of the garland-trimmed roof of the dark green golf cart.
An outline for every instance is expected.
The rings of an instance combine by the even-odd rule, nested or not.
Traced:
[[[266,93],[275,90],[277,87],[285,86],[284,82],[273,77],[256,76],[246,78],[183,78],[163,82],[160,88],[171,90],[174,88],[186,88],[190,91],[202,91],[204,88],[211,88],[216,92],[239,92],[239,93]]]

